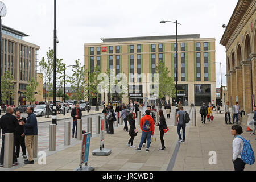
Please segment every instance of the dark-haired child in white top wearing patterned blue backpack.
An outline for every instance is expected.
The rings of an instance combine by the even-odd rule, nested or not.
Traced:
[[[233,158],[232,162],[234,164],[235,171],[243,171],[245,169],[245,164],[254,164],[255,157],[253,149],[249,141],[241,136],[243,129],[239,125],[233,125],[231,128],[231,134],[234,135],[233,140]]]

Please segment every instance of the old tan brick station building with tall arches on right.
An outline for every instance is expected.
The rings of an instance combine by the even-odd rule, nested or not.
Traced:
[[[220,44],[226,47],[226,101],[230,106],[238,101],[241,110],[251,113],[256,94],[255,0],[237,2]]]

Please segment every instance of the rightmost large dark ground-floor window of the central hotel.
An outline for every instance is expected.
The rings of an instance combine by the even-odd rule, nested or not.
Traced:
[[[195,85],[195,106],[201,106],[203,103],[211,102],[210,84]]]

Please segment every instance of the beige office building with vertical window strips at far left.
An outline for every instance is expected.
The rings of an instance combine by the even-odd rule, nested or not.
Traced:
[[[18,106],[25,104],[24,95],[18,92],[24,92],[26,85],[31,78],[36,80],[38,67],[39,46],[24,41],[24,37],[29,36],[14,30],[13,28],[2,26],[2,75],[9,70],[14,76],[15,96],[12,100],[6,101],[6,104]]]

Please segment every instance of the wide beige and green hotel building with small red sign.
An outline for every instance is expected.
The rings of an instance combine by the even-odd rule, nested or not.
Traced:
[[[164,61],[170,70],[170,76],[175,82],[178,79],[178,99],[183,105],[200,106],[203,102],[216,100],[214,38],[200,38],[199,34],[179,35],[177,45],[176,35],[101,40],[101,43],[84,44],[85,69],[89,72],[98,65],[102,73],[107,68],[115,69],[116,75],[125,73],[129,78],[129,74],[135,73],[154,74],[159,61]],[[137,77],[137,81],[141,83],[134,80],[129,79],[129,89],[134,89],[134,92],[129,91],[129,94],[123,96],[125,103],[130,99],[142,102],[144,97],[148,97],[142,90],[142,85],[145,84],[143,82],[148,79]],[[138,84],[139,86],[135,86]],[[102,94],[100,100],[108,102],[109,98],[109,94]],[[113,94],[112,101],[118,100],[118,94]],[[166,100],[169,98],[166,97]],[[175,101],[175,98],[170,100]]]

